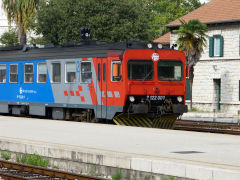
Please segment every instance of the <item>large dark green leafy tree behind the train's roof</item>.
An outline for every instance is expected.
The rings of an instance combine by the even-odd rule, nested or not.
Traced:
[[[150,16],[146,0],[51,0],[39,7],[36,32],[54,44],[80,40],[81,27],[93,40],[150,40]]]

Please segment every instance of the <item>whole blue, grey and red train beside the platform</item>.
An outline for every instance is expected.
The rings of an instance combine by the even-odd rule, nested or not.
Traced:
[[[172,128],[187,112],[183,52],[153,42],[0,48],[0,113]]]

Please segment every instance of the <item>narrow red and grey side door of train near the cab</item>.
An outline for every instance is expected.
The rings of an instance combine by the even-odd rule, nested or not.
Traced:
[[[107,117],[107,59],[97,58],[97,117],[105,119]]]

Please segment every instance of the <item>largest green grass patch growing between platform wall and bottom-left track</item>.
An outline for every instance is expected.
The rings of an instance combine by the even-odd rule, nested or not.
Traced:
[[[43,158],[38,154],[22,154],[16,156],[16,161],[18,163],[40,166],[46,168],[49,164],[48,159]]]

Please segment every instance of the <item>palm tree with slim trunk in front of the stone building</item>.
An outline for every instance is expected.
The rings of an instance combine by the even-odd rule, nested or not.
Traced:
[[[190,20],[188,23],[180,20],[181,26],[174,33],[178,34],[177,44],[179,50],[184,51],[188,58],[189,80],[190,80],[190,108],[192,109],[192,85],[194,78],[194,66],[199,61],[203,48],[206,46],[207,25],[202,24],[198,19]]]

